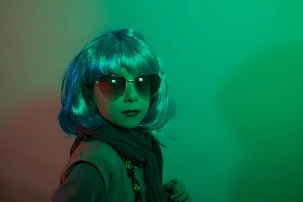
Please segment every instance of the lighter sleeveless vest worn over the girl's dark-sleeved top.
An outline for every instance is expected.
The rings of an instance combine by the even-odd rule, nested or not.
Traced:
[[[92,164],[102,175],[105,183],[105,196],[101,200],[102,202],[135,201],[132,181],[127,175],[125,164],[117,151],[109,144],[99,140],[80,142],[63,169],[60,178],[60,185],[66,181],[69,173],[71,172],[70,168],[80,162],[88,162]],[[136,166],[134,166],[134,169],[137,173],[142,198],[145,202],[146,185],[144,181],[144,170],[143,168],[139,169]]]

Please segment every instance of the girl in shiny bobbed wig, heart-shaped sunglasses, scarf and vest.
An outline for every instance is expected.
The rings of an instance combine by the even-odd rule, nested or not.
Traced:
[[[176,111],[165,78],[151,47],[132,29],[86,44],[63,78],[59,122],[76,140],[54,202],[191,200],[181,182],[162,184],[157,137]]]

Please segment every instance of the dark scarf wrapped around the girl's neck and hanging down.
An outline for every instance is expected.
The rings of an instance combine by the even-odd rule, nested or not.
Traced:
[[[134,166],[144,167],[147,202],[167,201],[162,179],[162,151],[153,136],[109,124],[94,131],[89,131],[83,126],[77,126],[76,130],[79,134],[84,133],[108,143],[121,159],[129,158]]]

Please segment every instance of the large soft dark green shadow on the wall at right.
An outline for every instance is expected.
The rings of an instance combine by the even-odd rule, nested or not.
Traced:
[[[238,63],[218,94],[245,148],[226,201],[303,201],[303,45],[279,45]]]

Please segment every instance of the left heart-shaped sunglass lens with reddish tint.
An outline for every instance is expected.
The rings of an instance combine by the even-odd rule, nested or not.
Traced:
[[[99,88],[107,98],[117,99],[126,88],[126,80],[123,76],[103,75],[99,80]]]

